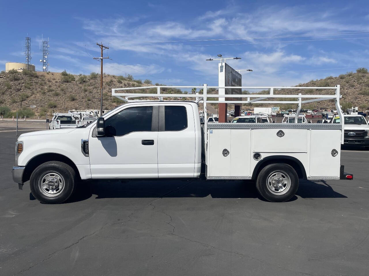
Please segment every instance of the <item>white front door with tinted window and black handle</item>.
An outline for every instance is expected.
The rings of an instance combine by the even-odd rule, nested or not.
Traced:
[[[128,106],[106,118],[106,137],[96,137],[93,128],[92,178],[157,178],[158,114],[158,106]]]

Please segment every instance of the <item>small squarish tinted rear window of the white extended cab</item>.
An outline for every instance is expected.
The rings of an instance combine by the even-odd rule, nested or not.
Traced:
[[[187,112],[184,106],[165,106],[165,131],[187,128]]]

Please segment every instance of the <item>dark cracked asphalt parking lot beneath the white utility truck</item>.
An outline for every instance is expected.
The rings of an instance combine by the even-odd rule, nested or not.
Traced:
[[[368,275],[369,151],[342,152],[354,180],[301,181],[284,203],[244,181],[155,180],[45,205],[13,183],[15,141],[0,132],[0,275]]]

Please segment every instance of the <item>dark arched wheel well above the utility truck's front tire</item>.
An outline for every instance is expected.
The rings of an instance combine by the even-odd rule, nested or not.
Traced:
[[[68,157],[62,154],[59,154],[59,153],[42,153],[40,155],[35,156],[30,161],[28,161],[27,165],[25,166],[25,170],[23,172],[23,177],[22,177],[23,183],[30,180],[32,172],[39,165],[41,165],[42,163],[48,162],[48,161],[60,161],[60,162],[68,164],[69,166],[73,168],[73,170],[76,172],[76,176],[80,179],[79,171],[76,165]]]

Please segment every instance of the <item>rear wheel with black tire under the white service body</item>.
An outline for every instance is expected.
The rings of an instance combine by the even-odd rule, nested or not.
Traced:
[[[275,185],[279,185],[279,188],[276,188],[272,181]],[[256,189],[259,194],[271,202],[290,200],[298,188],[299,176],[293,167],[284,163],[269,164],[263,167],[256,179]]]

